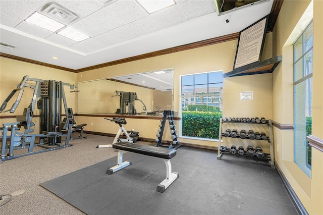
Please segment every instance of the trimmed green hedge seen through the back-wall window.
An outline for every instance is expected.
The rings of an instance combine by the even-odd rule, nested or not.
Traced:
[[[220,119],[222,119],[222,113],[183,111],[182,135],[219,139]]]

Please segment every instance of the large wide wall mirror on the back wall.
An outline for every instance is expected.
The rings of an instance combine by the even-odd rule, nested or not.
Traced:
[[[79,113],[158,116],[173,109],[174,69],[79,83]]]

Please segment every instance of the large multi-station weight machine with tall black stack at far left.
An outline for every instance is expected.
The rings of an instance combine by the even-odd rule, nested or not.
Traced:
[[[31,85],[27,81],[35,82],[35,85]],[[72,137],[72,127],[75,124],[75,121],[72,110],[67,108],[64,86],[70,86],[71,89],[74,89],[75,87],[74,84],[63,83],[61,81],[47,81],[29,78],[28,75],[24,76],[17,88],[9,94],[0,107],[0,113],[8,111],[14,113],[21,101],[24,88],[30,87],[34,90],[28,108],[24,109],[22,116],[17,116],[17,122],[3,124],[3,128],[0,128],[2,132],[1,160],[72,146],[69,145],[69,140]],[[4,111],[8,102],[16,92],[19,93],[11,109]],[[38,101],[36,102],[37,98]],[[67,116],[63,122],[61,120],[62,102]],[[40,110],[40,134],[30,134],[34,132],[32,127],[35,124],[32,122],[32,118],[34,116],[33,110],[36,103],[37,109]],[[19,132],[21,126],[25,129],[24,133]],[[9,132],[11,132],[10,135]],[[65,139],[62,140],[62,137]],[[39,143],[35,143],[36,138],[37,140],[39,139]],[[62,142],[65,142],[65,144],[62,144]],[[45,144],[48,146],[45,146]],[[41,146],[45,149],[33,151],[34,146]],[[14,150],[23,148],[28,148],[28,152],[19,155],[13,153]],[[7,151],[8,154],[6,154]]]

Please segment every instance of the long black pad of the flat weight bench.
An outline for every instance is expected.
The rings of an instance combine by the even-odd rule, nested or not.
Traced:
[[[130,151],[138,154],[144,154],[153,157],[171,159],[176,155],[176,149],[169,149],[161,146],[140,145],[131,142],[118,142],[112,145],[115,149]]]

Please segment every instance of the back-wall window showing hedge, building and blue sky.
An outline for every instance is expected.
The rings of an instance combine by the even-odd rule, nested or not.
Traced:
[[[181,76],[182,137],[219,138],[222,72]]]

